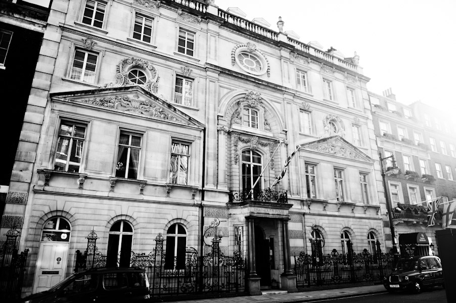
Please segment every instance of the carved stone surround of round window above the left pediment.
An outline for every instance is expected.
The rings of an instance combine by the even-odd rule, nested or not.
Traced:
[[[140,69],[147,76],[147,82],[144,84],[135,84],[128,79],[128,73],[132,69]],[[104,87],[122,87],[122,86],[141,86],[147,91],[154,94],[158,91],[158,71],[151,62],[138,58],[125,58],[120,61],[116,67],[116,83],[105,84]]]

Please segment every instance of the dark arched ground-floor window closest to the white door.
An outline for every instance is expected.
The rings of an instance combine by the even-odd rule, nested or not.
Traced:
[[[107,267],[117,266],[117,256],[120,256],[118,266],[130,266],[131,243],[133,242],[133,227],[127,221],[117,221],[109,230]]]

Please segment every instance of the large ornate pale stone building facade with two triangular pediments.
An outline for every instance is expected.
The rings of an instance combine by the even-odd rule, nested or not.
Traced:
[[[122,265],[159,233],[169,256],[202,251],[216,222],[252,293],[294,291],[311,239],[384,244],[359,56],[264,22],[194,0],[53,1],[1,231],[30,249],[25,292],[73,272],[91,231]]]

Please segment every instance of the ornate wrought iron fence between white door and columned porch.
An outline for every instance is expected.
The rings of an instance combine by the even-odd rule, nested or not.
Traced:
[[[220,251],[218,237],[212,239],[209,252],[203,257],[198,255],[195,248],[187,247],[184,266],[178,266],[177,258],[174,258],[173,266],[165,265],[164,238],[161,233],[155,241],[155,248],[148,255],[133,251],[130,255],[130,267],[146,270],[152,297],[245,291],[246,261],[238,251],[234,256],[224,256]],[[90,241],[90,247],[92,254],[87,252],[90,250],[88,248],[83,254],[76,251],[75,271],[106,267],[106,256],[98,251],[96,242]]]

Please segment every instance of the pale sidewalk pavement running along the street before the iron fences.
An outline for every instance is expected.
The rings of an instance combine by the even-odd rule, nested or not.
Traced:
[[[342,298],[358,296],[362,294],[373,294],[386,292],[385,287],[380,285],[356,286],[336,289],[319,289],[302,292],[288,293],[283,290],[265,290],[263,295],[255,296],[234,296],[223,298],[204,298],[197,300],[179,300],[178,303],[292,303],[292,302],[305,302],[305,301],[318,301],[329,298]],[[167,301],[166,303],[171,303]]]

